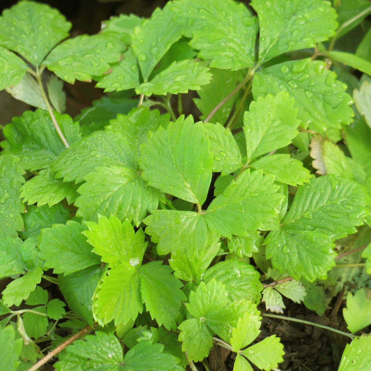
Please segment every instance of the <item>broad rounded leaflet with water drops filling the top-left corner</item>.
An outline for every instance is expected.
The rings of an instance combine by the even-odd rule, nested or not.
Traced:
[[[56,9],[35,1],[19,1],[0,17],[0,43],[34,66],[68,37],[71,23]]]

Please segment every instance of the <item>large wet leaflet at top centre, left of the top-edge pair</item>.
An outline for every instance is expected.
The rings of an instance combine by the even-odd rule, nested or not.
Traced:
[[[254,63],[257,20],[244,4],[232,0],[183,0],[174,3],[174,19],[182,33],[192,38],[198,57],[210,67],[237,70]],[[186,25],[185,25],[186,24]]]

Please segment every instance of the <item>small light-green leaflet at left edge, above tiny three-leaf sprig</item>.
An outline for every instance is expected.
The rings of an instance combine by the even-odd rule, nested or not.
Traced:
[[[4,304],[9,307],[13,304],[19,306],[22,300],[27,299],[30,292],[35,290],[36,285],[41,281],[42,274],[43,270],[35,267],[29,270],[26,275],[10,282],[2,292]]]

